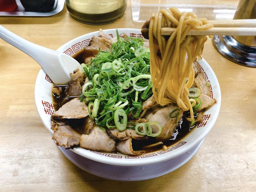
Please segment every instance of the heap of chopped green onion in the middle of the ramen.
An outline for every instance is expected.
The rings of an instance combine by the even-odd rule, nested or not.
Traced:
[[[134,129],[127,114],[139,117],[142,102],[152,95],[149,50],[143,40],[119,38],[117,31],[117,42],[110,52],[99,51],[82,66],[89,81],[83,87],[81,101],[88,105],[90,118],[99,126]]]

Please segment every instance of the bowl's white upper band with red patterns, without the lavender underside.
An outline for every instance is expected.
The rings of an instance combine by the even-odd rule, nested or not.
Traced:
[[[127,36],[131,37],[141,37],[140,29],[118,29],[119,34],[126,33]],[[111,36],[116,36],[116,29],[104,30],[104,32]],[[83,49],[87,46],[92,39],[92,36],[100,36],[99,31],[92,32],[86,35],[77,37],[66,44],[62,45],[58,51],[66,53],[67,55],[73,55],[77,51]],[[121,154],[105,153],[92,150],[86,150],[83,148],[74,148],[73,152],[80,156],[86,157],[88,159],[101,162],[104,164],[111,165],[122,165],[122,166],[140,166],[140,165],[150,165],[164,162],[175,157],[181,156],[182,154],[188,152],[189,150],[199,146],[199,143],[203,141],[205,136],[212,129],[220,111],[220,85],[219,82],[212,71],[212,68],[208,63],[202,59],[199,61],[202,66],[203,73],[205,75],[206,81],[211,83],[211,96],[217,100],[217,103],[208,108],[204,112],[203,122],[197,127],[193,128],[192,131],[180,141],[177,141],[172,146],[169,146],[167,150],[154,151],[152,153],[143,154],[141,156],[127,156]],[[41,69],[38,73],[35,85],[35,103],[37,112],[44,124],[44,126],[49,130],[51,134],[51,120],[50,117],[54,112],[52,105],[52,81]]]

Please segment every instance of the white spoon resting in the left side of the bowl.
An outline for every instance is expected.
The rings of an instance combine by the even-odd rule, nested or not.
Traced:
[[[44,69],[44,72],[57,85],[68,84],[70,81],[69,73],[73,73],[80,66],[74,58],[29,42],[1,25],[0,38],[35,59]]]

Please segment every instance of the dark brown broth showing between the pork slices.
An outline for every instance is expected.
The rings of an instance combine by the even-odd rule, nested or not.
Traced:
[[[90,58],[92,55],[85,55],[84,54],[84,49],[78,51],[76,54],[72,56],[75,58],[79,63],[84,63],[85,58]],[[67,89],[66,86],[59,86],[59,85],[53,85],[53,87],[58,87],[61,89],[61,94],[60,96],[53,96],[53,106],[55,111],[59,110],[59,108],[67,103],[72,97],[66,98],[65,91]],[[156,138],[155,137],[149,137],[148,139],[145,140],[135,140],[132,139],[132,148],[133,150],[143,150],[145,153],[150,153],[156,150],[161,150],[163,148],[163,145],[166,145],[167,147],[170,147],[172,144],[178,142],[180,139],[185,137],[191,130],[192,128],[189,127],[189,121],[186,119],[188,117],[189,112],[185,111],[183,112],[182,119],[180,121],[179,126],[176,127],[176,132],[173,134],[173,137],[171,139],[163,141],[163,144],[157,145],[155,147],[147,148],[144,149],[143,146],[147,146],[153,143],[156,143]],[[81,134],[84,134],[84,118],[80,120],[70,120],[68,119],[68,123],[70,124],[71,127],[75,128],[78,132]]]

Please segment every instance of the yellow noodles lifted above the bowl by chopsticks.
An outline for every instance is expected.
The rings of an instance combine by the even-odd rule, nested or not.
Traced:
[[[162,27],[175,27],[166,40],[161,35]],[[194,13],[180,13],[177,8],[161,9],[153,14],[149,24],[150,73],[153,94],[160,105],[177,104],[190,111],[189,121],[194,119],[189,100],[189,88],[194,82],[193,61],[201,59],[205,36],[191,36],[188,32],[213,27],[205,18]]]

